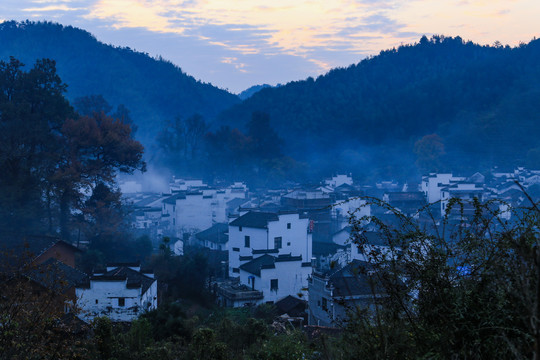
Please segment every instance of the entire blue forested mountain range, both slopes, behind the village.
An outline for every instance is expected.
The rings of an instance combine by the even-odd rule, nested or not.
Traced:
[[[112,108],[125,105],[147,152],[157,151],[154,159],[176,164],[172,170],[184,175],[212,169],[227,177],[233,168],[261,166],[249,150],[254,113],[268,115],[268,136],[281,139],[263,156],[273,159],[265,166],[278,168],[280,178],[290,176],[291,166],[307,175],[352,171],[378,178],[540,167],[540,40],[511,48],[423,37],[317,79],[248,89],[243,102],[170,62],[105,45],[69,26],[4,22],[0,60],[9,56],[28,67],[54,59],[76,107],[77,98],[90,95],[102,95]],[[196,113],[202,117],[193,118]]]

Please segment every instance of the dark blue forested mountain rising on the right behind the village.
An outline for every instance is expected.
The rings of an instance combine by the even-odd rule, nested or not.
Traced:
[[[286,152],[308,164],[374,166],[388,176],[415,161],[421,171],[540,167],[540,40],[511,48],[423,37],[264,89],[220,119],[241,128],[254,111],[267,112]]]

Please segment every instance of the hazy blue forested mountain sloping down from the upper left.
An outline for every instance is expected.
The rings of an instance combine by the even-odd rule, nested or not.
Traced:
[[[8,60],[9,56],[28,67],[38,58],[56,60],[71,101],[100,94],[113,106],[124,104],[139,128],[137,137],[146,145],[153,143],[165,120],[194,113],[210,120],[240,101],[166,60],[103,44],[71,26],[4,22],[0,24],[0,59]]]

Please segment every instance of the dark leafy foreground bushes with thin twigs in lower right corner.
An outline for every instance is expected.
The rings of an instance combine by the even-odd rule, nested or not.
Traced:
[[[536,204],[512,210],[513,220],[506,221],[500,202],[453,199],[441,223],[430,226],[429,208],[417,221],[374,203],[397,221],[353,217],[352,240],[370,261],[365,271],[386,295],[370,309],[351,309],[340,356],[538,359]],[[464,214],[467,205],[473,214]],[[361,230],[366,220],[378,228],[389,252],[372,251]]]

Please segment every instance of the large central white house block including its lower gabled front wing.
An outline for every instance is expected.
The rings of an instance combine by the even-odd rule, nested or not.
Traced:
[[[249,211],[229,223],[229,275],[262,294],[250,304],[298,296],[307,288],[312,271],[308,228],[309,219],[297,212]]]

